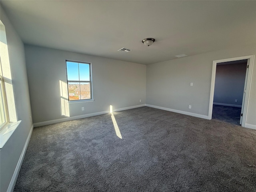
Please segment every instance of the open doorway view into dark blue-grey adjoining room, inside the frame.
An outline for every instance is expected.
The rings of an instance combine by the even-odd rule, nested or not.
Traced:
[[[217,63],[212,119],[241,124],[247,59]]]

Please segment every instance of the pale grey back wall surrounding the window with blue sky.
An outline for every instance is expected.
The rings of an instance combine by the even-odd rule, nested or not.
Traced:
[[[146,65],[32,45],[25,45],[25,52],[35,123],[65,118],[61,112],[59,82],[67,82],[66,60],[92,63],[95,99],[69,104],[70,117],[109,111],[110,105],[118,109],[146,102]]]

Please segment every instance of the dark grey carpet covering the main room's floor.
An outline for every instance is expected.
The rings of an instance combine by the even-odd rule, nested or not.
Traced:
[[[155,108],[34,128],[15,192],[255,192],[256,130]]]

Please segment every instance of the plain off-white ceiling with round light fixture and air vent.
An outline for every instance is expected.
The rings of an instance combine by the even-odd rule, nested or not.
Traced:
[[[151,64],[256,43],[256,1],[6,1],[26,44]],[[152,46],[142,39],[152,37]],[[128,53],[118,52],[128,48]]]

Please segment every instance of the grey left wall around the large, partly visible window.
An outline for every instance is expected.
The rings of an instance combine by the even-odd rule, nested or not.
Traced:
[[[22,154],[26,139],[32,128],[28,79],[24,44],[1,7],[1,21],[5,25],[16,117],[22,120],[18,128],[0,150],[0,191],[5,192]],[[15,183],[14,183],[15,184]]]

